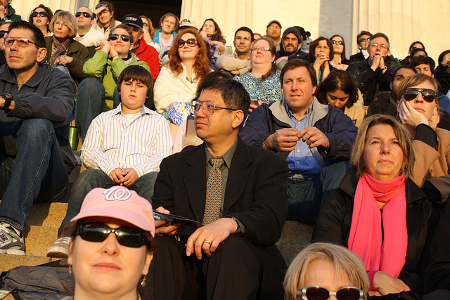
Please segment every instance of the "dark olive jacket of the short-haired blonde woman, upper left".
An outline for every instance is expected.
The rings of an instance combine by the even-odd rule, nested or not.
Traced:
[[[53,37],[45,37],[45,44],[47,48],[47,55],[44,58],[44,62],[50,60]],[[83,74],[83,65],[87,60],[89,60],[89,51],[78,41],[72,39],[72,41],[70,41],[70,45],[68,46],[68,51],[65,55],[73,58],[72,62],[68,63],[66,67],[68,67],[70,77],[72,77],[72,79],[75,81],[75,84],[77,84],[78,86],[78,84],[85,78]]]

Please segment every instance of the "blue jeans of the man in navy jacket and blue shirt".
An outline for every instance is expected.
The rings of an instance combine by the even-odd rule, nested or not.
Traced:
[[[335,162],[323,166],[314,178],[288,178],[288,220],[316,223],[323,196],[339,187],[349,167],[348,162]]]

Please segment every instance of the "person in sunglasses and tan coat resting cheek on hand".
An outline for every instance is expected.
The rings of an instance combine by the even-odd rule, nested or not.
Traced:
[[[401,122],[414,138],[416,164],[413,181],[441,209],[450,195],[450,131],[436,128],[439,123],[437,80],[415,74],[401,81],[397,110]]]

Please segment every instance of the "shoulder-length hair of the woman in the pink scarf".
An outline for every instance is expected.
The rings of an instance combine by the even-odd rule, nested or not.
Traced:
[[[390,115],[372,115],[364,119],[361,126],[359,126],[358,135],[356,136],[356,141],[354,141],[352,153],[350,154],[350,164],[357,169],[358,176],[364,176],[364,147],[366,145],[367,131],[375,125],[390,125],[392,127],[403,152],[400,173],[407,178],[410,177],[413,174],[415,162],[411,134],[406,130],[405,126]]]

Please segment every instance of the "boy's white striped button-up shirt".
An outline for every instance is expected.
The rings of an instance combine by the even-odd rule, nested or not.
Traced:
[[[108,175],[116,168],[133,168],[140,177],[160,171],[162,159],[172,154],[172,134],[166,119],[153,110],[144,106],[130,118],[119,105],[92,121],[81,151],[88,168]]]

